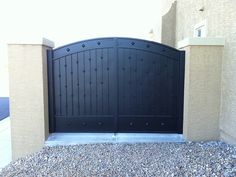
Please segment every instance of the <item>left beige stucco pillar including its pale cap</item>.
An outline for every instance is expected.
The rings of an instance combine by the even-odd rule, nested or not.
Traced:
[[[38,151],[48,136],[47,39],[8,44],[13,160]]]

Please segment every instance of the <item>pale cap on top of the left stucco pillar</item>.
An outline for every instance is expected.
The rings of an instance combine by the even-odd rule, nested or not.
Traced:
[[[46,38],[24,38],[24,39],[13,39],[13,40],[9,40],[7,41],[8,45],[44,45],[47,47],[51,47],[54,48],[55,44],[53,41],[46,39]]]

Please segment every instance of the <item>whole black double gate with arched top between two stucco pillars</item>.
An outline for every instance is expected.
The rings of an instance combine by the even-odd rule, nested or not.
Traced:
[[[48,51],[51,132],[182,133],[184,52],[101,38]]]

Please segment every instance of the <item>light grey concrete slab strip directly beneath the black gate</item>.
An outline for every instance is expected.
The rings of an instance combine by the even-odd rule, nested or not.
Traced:
[[[184,142],[184,139],[181,134],[160,133],[52,133],[45,142],[45,145],[158,142]]]

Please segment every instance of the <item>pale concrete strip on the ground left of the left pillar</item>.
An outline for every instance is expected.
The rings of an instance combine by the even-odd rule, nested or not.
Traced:
[[[0,121],[0,169],[9,164],[11,157],[10,118]]]

